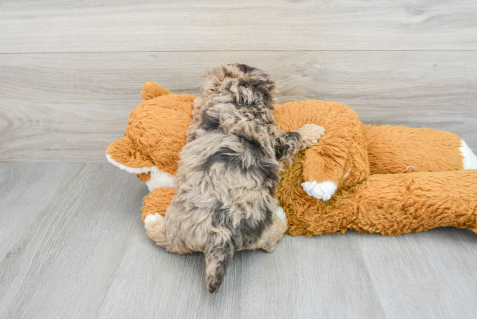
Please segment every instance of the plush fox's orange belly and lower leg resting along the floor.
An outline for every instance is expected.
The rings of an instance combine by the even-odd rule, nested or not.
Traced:
[[[400,235],[441,226],[477,232],[477,170],[375,174],[326,202],[300,186],[304,155],[282,175],[276,195],[287,212],[288,234],[319,235],[354,229]]]

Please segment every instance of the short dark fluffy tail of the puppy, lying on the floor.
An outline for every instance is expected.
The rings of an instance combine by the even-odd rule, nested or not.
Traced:
[[[228,242],[211,247],[205,252],[205,280],[211,294],[215,294],[219,290],[225,275],[225,267],[233,254],[234,247]]]

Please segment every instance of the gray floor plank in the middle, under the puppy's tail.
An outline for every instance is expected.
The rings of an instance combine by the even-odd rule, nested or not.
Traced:
[[[239,252],[216,296],[205,289],[202,255],[128,248],[100,317],[384,318],[357,242],[347,236],[286,236],[270,254]]]

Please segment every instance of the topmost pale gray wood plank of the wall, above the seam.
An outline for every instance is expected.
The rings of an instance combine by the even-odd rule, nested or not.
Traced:
[[[0,52],[477,50],[477,3],[1,1]]]

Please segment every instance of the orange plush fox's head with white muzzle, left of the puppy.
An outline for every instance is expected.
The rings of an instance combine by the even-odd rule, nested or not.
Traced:
[[[120,169],[138,174],[149,190],[174,188],[173,176],[196,96],[172,94],[147,82],[141,97],[142,103],[129,115],[124,137],[110,145],[106,156]]]

